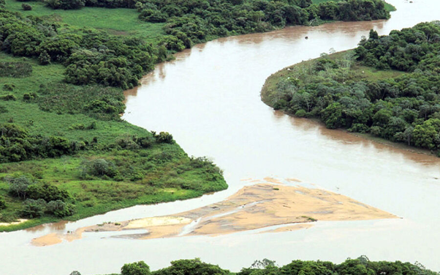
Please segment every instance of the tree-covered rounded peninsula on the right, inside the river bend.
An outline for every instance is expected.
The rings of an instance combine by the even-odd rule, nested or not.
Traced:
[[[275,109],[317,117],[328,128],[437,152],[440,149],[440,22],[378,36],[354,50],[289,67],[262,93]]]

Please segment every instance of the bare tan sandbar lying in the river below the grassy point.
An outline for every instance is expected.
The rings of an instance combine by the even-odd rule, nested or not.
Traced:
[[[33,239],[32,244],[45,246],[60,243],[63,239],[72,241],[81,238],[83,232],[124,230],[126,234],[117,237],[151,239],[228,234],[276,225],[286,225],[286,227],[263,232],[291,231],[310,228],[317,220],[397,218],[393,214],[340,194],[321,189],[274,184],[276,182],[278,181],[270,180],[266,183],[245,186],[224,201],[175,215],[104,223],[66,234],[51,233]],[[146,229],[147,232],[130,234],[129,229]]]

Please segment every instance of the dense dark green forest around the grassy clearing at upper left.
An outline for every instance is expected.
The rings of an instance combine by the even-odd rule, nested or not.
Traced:
[[[222,36],[269,31],[286,25],[328,20],[374,20],[390,17],[382,0],[344,0],[312,4],[311,0],[47,0],[51,8],[77,9],[84,5],[136,8],[141,20],[166,23],[165,35],[154,43],[139,37],[109,36],[104,31],[80,31],[40,17],[24,17],[0,9],[1,50],[15,56],[38,58],[66,66],[67,83],[101,84],[129,89],[167,50],[180,51],[195,43]]]

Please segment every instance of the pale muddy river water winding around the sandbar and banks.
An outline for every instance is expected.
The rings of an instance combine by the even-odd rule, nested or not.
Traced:
[[[171,260],[194,257],[236,271],[262,258],[279,264],[297,258],[341,262],[361,254],[372,260],[417,260],[440,270],[440,159],[328,130],[317,122],[275,112],[260,100],[265,78],[279,69],[330,48],[355,47],[371,28],[388,34],[440,19],[438,0],[389,2],[397,11],[388,21],[289,27],[224,38],[159,64],[142,86],[127,93],[123,118],[149,130],[171,132],[189,155],[212,158],[224,170],[228,190],[134,206],[75,223],[0,233],[0,274],[116,273],[124,263],[138,260],[154,270]],[[251,184],[243,179],[265,177],[298,179],[302,186],[340,193],[401,219],[317,222],[310,229],[277,233],[253,230],[151,240],[113,238],[114,232],[84,233],[83,239],[71,243],[30,245],[32,238],[51,232],[215,203]]]

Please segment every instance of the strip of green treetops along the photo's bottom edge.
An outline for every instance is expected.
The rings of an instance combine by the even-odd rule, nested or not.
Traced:
[[[329,261],[302,261],[294,260],[284,266],[276,262],[263,259],[255,261],[249,268],[242,268],[233,273],[220,268],[218,265],[208,264],[200,259],[182,259],[171,262],[171,266],[150,271],[150,267],[143,261],[125,264],[120,275],[438,275],[439,273],[427,270],[420,263],[410,264],[400,261],[370,261],[362,255],[356,259],[347,259],[341,264]],[[78,271],[70,275],[80,275]],[[116,274],[113,274],[116,275]]]

